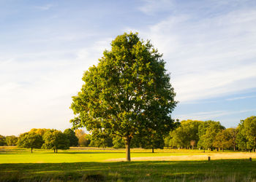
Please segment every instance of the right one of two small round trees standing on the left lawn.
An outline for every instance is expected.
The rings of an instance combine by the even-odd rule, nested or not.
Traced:
[[[58,153],[58,149],[69,149],[69,139],[67,135],[58,130],[50,130],[43,135],[45,143],[42,149],[53,149],[54,153]]]

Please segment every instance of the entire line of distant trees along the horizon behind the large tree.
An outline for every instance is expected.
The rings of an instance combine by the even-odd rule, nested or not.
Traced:
[[[233,151],[255,151],[256,116],[250,116],[236,128],[225,128],[220,122],[186,120],[174,122],[175,129],[168,135],[148,130],[146,137],[133,138],[132,148],[143,149],[203,149]],[[0,146],[15,146],[31,149],[69,149],[69,146],[113,147],[124,149],[125,141],[117,135],[104,132],[87,134],[83,130],[67,129],[64,132],[50,129],[32,129],[29,132],[4,137],[0,135]]]

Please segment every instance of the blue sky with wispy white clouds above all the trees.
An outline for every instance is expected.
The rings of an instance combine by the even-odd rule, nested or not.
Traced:
[[[256,1],[0,0],[0,135],[72,127],[83,72],[130,31],[163,54],[173,119],[256,115]]]

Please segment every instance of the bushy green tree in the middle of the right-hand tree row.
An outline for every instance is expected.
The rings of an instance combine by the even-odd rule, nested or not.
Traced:
[[[197,146],[203,149],[213,149],[213,143],[218,132],[224,130],[225,127],[220,122],[207,121],[203,122],[198,127],[199,141]]]

